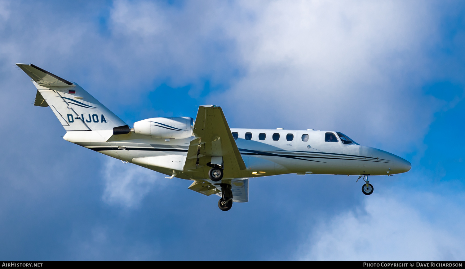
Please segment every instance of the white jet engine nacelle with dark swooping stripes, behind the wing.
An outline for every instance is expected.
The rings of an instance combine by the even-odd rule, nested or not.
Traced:
[[[190,117],[150,118],[134,122],[134,133],[155,138],[183,139],[192,136],[194,119]]]

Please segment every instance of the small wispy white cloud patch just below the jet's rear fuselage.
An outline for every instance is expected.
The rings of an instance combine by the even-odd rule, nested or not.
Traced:
[[[160,173],[113,158],[105,164],[104,179],[103,200],[124,208],[136,207],[154,187],[167,182]]]

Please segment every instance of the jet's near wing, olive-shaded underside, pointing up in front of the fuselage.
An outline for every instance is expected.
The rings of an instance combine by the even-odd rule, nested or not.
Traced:
[[[200,106],[193,133],[196,138],[189,145],[183,173],[203,173],[204,178],[208,179],[208,165],[221,165],[218,162],[222,160],[223,179],[241,178],[241,170],[245,170],[246,165],[220,107]]]

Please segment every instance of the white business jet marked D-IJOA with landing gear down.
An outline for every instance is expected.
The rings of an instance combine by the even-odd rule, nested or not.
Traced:
[[[33,64],[17,64],[37,88],[34,105],[50,107],[66,134],[82,147],[173,179],[192,180],[189,189],[221,197],[219,209],[247,202],[249,179],[295,173],[358,175],[370,195],[369,175],[405,173],[410,162],[361,146],[334,131],[229,128],[223,110],[199,106],[197,118],[150,118],[130,128],[77,83]]]

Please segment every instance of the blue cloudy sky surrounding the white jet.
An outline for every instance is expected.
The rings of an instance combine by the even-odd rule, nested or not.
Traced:
[[[0,259],[463,260],[465,6],[458,1],[0,0]],[[190,182],[62,139],[14,63],[132,124],[223,107],[231,127],[330,129],[412,170]]]

